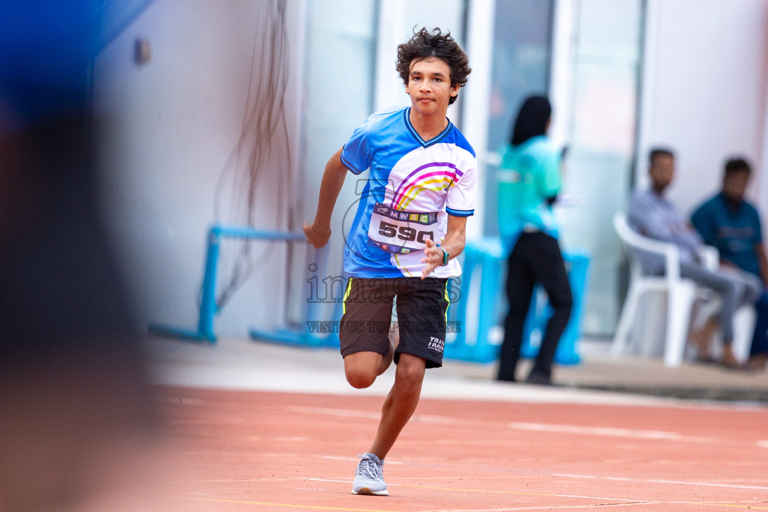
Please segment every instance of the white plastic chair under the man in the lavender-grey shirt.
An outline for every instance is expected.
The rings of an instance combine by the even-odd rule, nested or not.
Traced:
[[[621,316],[611,346],[611,355],[620,357],[627,345],[627,338],[633,319],[637,315],[640,299],[647,292],[667,292],[667,332],[664,343],[664,365],[679,366],[683,362],[685,343],[690,322],[690,310],[696,299],[696,285],[690,279],[680,277],[680,253],[677,246],[650,239],[635,233],[627,223],[627,216],[618,212],[614,215],[614,229],[621,239],[630,262],[630,284],[627,299],[621,309]],[[664,276],[645,276],[637,250],[664,256]],[[717,249],[715,249],[717,251]],[[703,255],[707,266],[713,259],[711,251]],[[717,265],[717,253],[713,263]]]

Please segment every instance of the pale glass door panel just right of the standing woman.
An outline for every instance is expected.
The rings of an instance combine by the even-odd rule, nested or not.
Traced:
[[[586,335],[611,336],[621,309],[624,254],[614,213],[625,210],[635,150],[643,0],[574,2],[568,156],[561,244],[591,252]]]

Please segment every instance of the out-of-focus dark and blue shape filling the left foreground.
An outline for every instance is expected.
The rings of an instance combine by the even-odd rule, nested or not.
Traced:
[[[94,200],[101,12],[94,0],[0,4],[0,510],[82,510],[136,467],[118,460],[152,424]]]

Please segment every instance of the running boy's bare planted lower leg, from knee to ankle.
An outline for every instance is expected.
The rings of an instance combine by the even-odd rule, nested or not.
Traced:
[[[395,385],[392,386],[384,401],[379,431],[376,433],[376,440],[373,441],[368,451],[371,454],[376,454],[381,460],[389,453],[389,449],[392,448],[392,444],[395,444],[397,436],[406,426],[419,403],[425,368],[426,361],[424,358],[400,354],[395,373]]]

